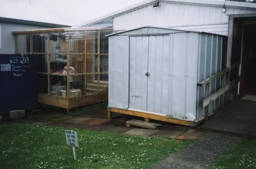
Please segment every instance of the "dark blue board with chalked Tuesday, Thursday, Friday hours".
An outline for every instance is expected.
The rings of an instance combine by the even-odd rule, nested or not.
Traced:
[[[0,115],[37,107],[35,56],[0,54]]]

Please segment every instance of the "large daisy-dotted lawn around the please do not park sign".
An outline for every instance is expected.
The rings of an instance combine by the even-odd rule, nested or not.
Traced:
[[[29,124],[0,126],[0,168],[148,168],[189,141],[77,131],[77,161],[66,145],[65,129]]]

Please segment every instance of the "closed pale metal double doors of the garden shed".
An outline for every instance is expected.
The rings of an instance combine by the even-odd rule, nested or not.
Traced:
[[[129,108],[167,114],[170,35],[130,36]]]

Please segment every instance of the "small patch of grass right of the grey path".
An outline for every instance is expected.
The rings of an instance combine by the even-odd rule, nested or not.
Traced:
[[[227,155],[222,156],[213,168],[256,168],[256,140],[243,139]]]

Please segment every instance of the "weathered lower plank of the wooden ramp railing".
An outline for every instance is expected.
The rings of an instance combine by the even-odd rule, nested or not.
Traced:
[[[203,101],[202,101],[202,108],[207,107],[210,102],[214,101],[215,99],[217,99],[219,96],[223,95],[226,91],[228,91],[230,88],[232,88],[236,82],[238,80],[234,79],[232,80],[229,84],[227,84],[225,87],[219,89],[218,91],[216,91],[215,93],[213,93],[212,95],[206,97]]]

